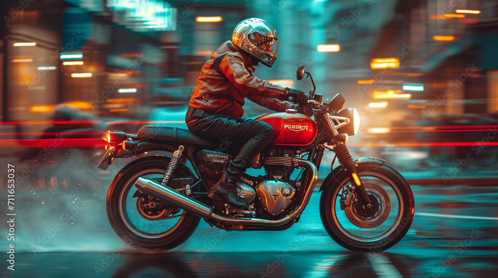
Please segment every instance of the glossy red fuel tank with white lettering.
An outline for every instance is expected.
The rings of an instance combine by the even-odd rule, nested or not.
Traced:
[[[254,119],[275,130],[275,145],[308,145],[316,138],[318,128],[310,117],[297,113],[273,113]]]

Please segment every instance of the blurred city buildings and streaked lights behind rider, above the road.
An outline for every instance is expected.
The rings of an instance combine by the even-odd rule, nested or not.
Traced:
[[[256,75],[308,91],[309,79],[295,79],[302,64],[324,99],[342,93],[362,119],[356,156],[432,169],[497,163],[496,1],[6,0],[1,8],[2,146],[48,146],[62,131],[70,138],[61,146],[101,146],[108,128],[184,127],[202,65],[239,21],[259,17],[277,30],[280,49]]]

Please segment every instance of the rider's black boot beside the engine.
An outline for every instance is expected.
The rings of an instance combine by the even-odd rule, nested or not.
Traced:
[[[249,210],[248,204],[244,203],[237,195],[235,179],[229,175],[229,172],[231,171],[223,171],[221,179],[211,188],[208,197],[237,209]]]

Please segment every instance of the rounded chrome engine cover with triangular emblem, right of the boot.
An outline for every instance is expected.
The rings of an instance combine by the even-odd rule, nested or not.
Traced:
[[[294,188],[281,180],[266,180],[256,186],[257,196],[264,210],[278,215],[287,209],[294,197]]]

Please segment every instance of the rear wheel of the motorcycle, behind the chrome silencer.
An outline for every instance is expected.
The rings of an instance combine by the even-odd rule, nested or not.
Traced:
[[[139,177],[161,179],[168,163],[169,158],[162,156],[137,159],[123,168],[109,188],[109,222],[130,246],[169,250],[187,240],[199,224],[200,217],[137,192],[134,184]],[[172,178],[195,176],[179,163]]]

